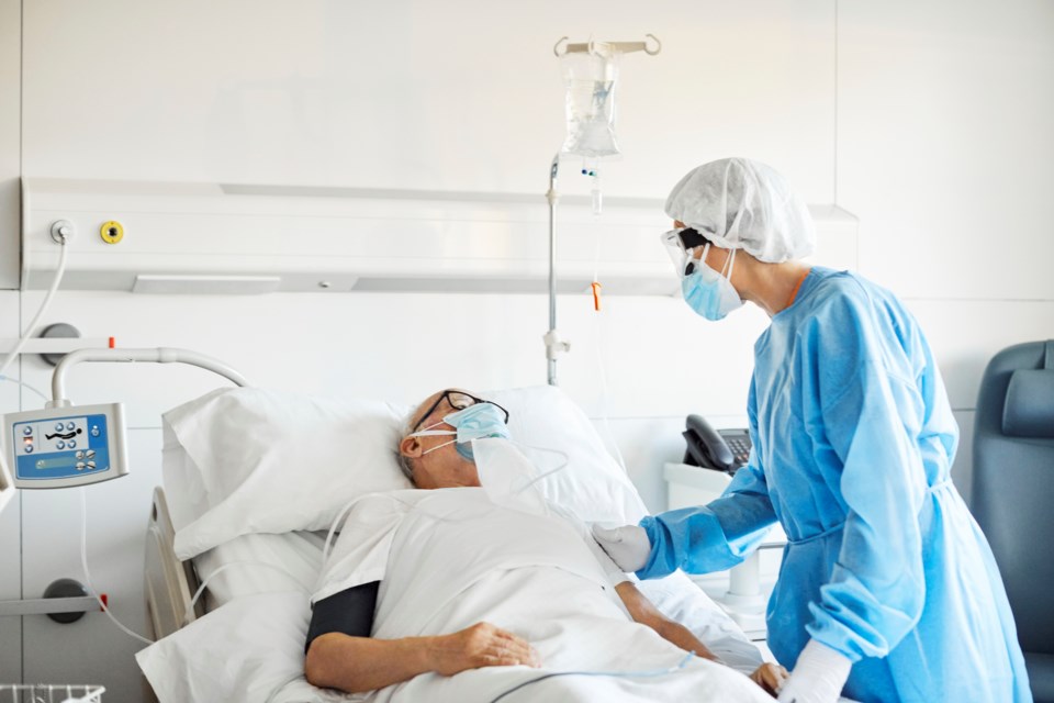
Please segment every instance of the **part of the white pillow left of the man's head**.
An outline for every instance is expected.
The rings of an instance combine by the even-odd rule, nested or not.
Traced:
[[[327,529],[355,498],[411,488],[400,415],[380,401],[218,389],[164,415],[176,555],[239,535]]]

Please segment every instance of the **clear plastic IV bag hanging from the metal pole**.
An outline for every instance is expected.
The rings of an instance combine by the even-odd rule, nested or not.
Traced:
[[[617,53],[575,52],[564,54],[568,136],[562,152],[590,158],[615,156],[615,83]]]

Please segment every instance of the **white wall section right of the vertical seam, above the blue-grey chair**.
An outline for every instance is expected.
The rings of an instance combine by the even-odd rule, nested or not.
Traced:
[[[838,7],[838,203],[919,316],[963,428],[988,359],[1054,337],[1054,4]]]

